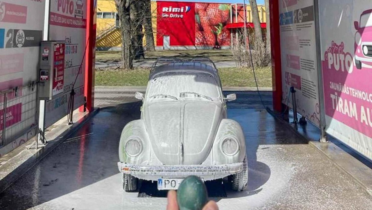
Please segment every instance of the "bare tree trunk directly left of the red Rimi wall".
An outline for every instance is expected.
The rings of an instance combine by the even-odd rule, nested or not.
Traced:
[[[145,29],[145,35],[146,35],[146,50],[155,51],[153,22],[152,22],[152,14],[151,14],[151,1],[143,0],[142,8],[145,13],[145,17],[144,17],[142,24]]]

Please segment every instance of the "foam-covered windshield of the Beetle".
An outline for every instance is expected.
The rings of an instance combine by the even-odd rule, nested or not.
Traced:
[[[173,96],[177,98],[219,98],[219,86],[215,78],[208,73],[202,72],[166,72],[156,75],[150,81],[150,87],[146,96],[148,98],[160,98],[153,96]],[[181,93],[197,94],[181,94]],[[164,97],[161,97],[164,98]]]

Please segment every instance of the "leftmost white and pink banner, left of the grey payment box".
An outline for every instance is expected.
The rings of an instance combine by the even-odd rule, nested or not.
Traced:
[[[38,80],[44,10],[45,0],[0,0],[0,91],[19,87],[17,95],[7,94],[5,119],[0,109],[0,130],[4,123],[7,127],[0,156],[35,135],[35,130],[25,130],[36,123],[36,89],[21,87]],[[1,95],[1,105],[3,101]]]

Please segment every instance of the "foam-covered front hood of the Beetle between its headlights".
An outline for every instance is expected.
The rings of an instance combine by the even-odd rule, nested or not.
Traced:
[[[170,101],[144,106],[154,154],[165,165],[201,164],[211,150],[222,103]]]

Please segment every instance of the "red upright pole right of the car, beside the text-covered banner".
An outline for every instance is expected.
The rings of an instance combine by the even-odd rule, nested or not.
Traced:
[[[273,108],[277,112],[282,112],[282,62],[280,60],[279,0],[270,0],[269,2]]]

